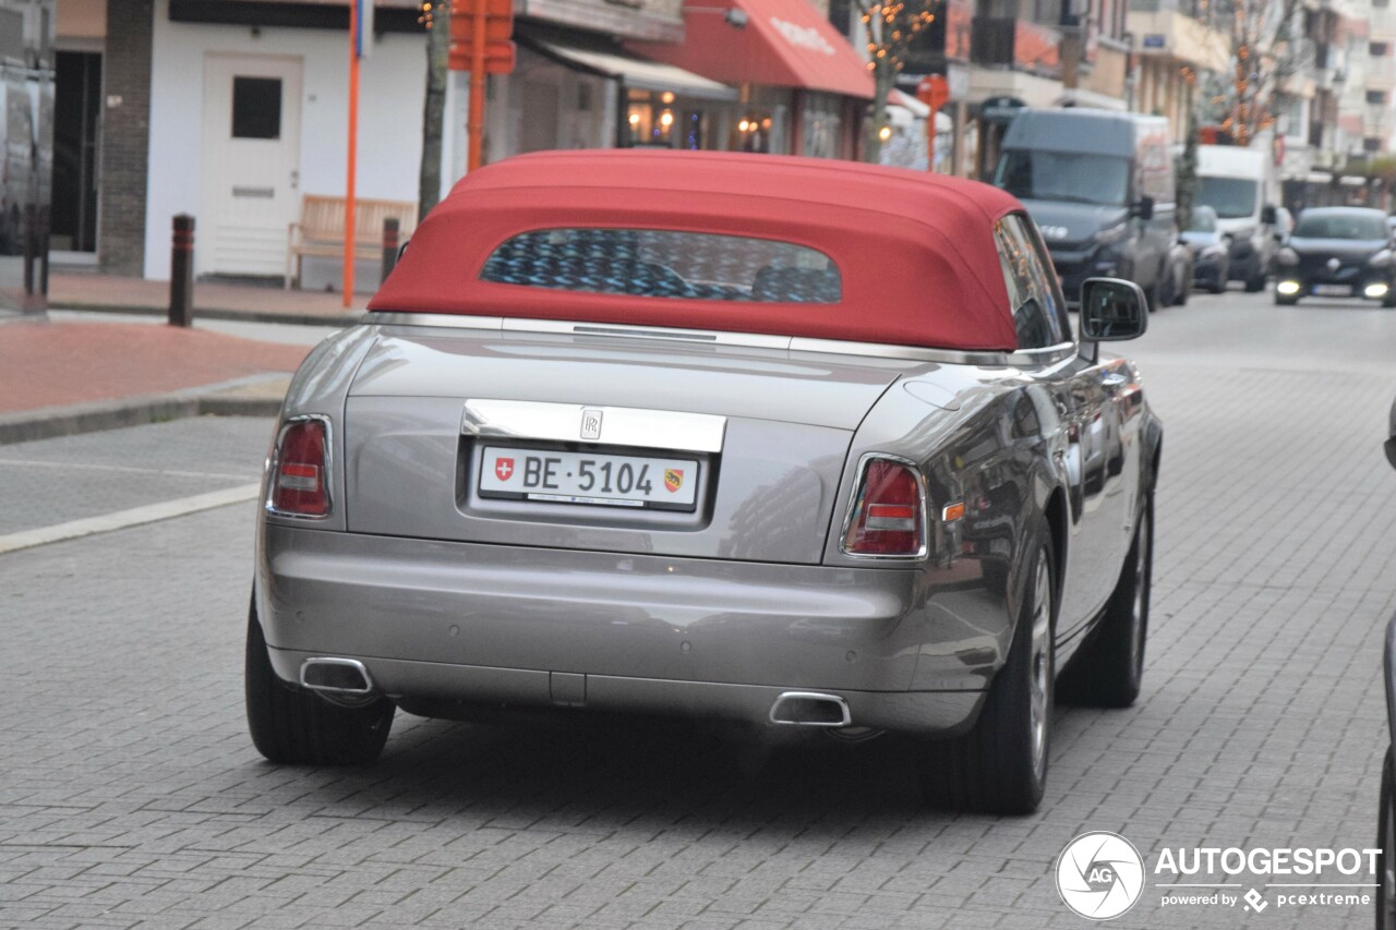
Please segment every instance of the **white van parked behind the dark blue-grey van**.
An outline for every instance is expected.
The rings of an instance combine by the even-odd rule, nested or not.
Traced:
[[[1231,281],[1247,290],[1265,288],[1275,254],[1275,163],[1265,149],[1198,145],[1195,202],[1217,212],[1217,230],[1230,240]]]

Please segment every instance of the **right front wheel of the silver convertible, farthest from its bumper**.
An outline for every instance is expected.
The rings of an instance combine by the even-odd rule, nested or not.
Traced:
[[[1153,492],[1149,492],[1106,613],[1062,672],[1065,700],[1090,707],[1129,707],[1139,697],[1152,581]]]

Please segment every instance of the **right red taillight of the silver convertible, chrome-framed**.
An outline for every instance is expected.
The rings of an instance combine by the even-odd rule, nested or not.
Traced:
[[[853,503],[843,552],[850,556],[926,554],[921,476],[910,464],[868,458]]]

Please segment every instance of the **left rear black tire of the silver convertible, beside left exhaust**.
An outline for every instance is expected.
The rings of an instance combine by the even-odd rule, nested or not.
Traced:
[[[247,729],[257,751],[272,762],[299,765],[367,765],[383,753],[392,729],[392,701],[339,707],[276,677],[257,620],[247,612]]]

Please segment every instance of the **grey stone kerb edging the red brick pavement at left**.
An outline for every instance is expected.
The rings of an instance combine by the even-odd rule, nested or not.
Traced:
[[[265,378],[253,378],[251,383],[257,380]],[[151,394],[0,415],[0,445],[163,423],[187,416],[265,416],[268,419],[276,416],[281,412],[279,397],[226,397],[219,394],[230,387],[243,387],[248,383],[248,378],[242,378],[228,384],[172,394]]]

